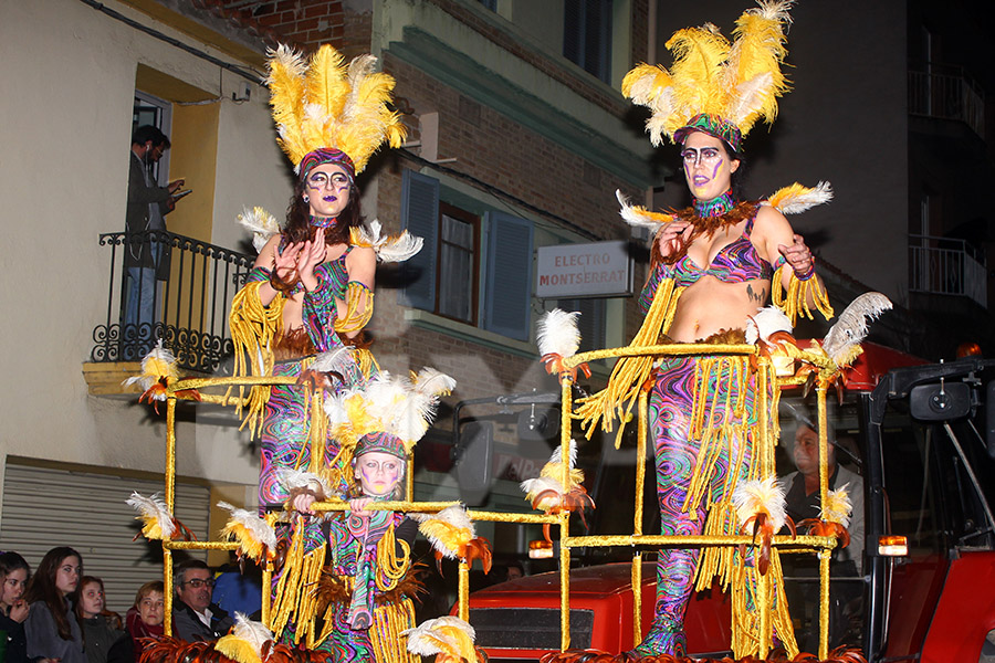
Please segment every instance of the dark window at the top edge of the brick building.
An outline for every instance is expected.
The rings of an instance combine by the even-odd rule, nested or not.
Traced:
[[[563,55],[610,83],[611,0],[565,0]]]

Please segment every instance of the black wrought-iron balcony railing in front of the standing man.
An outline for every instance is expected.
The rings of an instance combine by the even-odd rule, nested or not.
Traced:
[[[111,248],[107,318],[91,360],[137,361],[161,339],[180,368],[214,372],[232,352],[228,311],[253,259],[164,231],[105,233],[101,245]]]

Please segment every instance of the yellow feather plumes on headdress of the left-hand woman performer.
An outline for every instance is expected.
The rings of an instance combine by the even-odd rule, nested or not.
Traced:
[[[374,71],[373,55],[346,64],[325,44],[305,60],[281,44],[269,56],[266,84],[277,143],[295,168],[307,152],[334,147],[349,156],[358,173],[380,145],[404,143],[405,126],[389,105],[394,77]]]

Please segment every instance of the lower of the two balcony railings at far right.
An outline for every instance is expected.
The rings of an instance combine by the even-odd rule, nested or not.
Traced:
[[[988,306],[985,256],[964,240],[909,235],[909,290],[971,297]]]

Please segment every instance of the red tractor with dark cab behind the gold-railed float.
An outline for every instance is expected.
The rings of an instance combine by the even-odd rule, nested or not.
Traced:
[[[856,575],[832,573],[830,646],[857,646],[871,663],[995,661],[995,360],[925,365],[873,344],[865,350],[834,415],[839,446],[852,455],[840,462],[863,480],[865,554]],[[643,630],[653,567],[643,562]],[[785,580],[799,644],[813,642],[817,578],[786,572]],[[574,649],[631,649],[630,565],[572,570],[569,621]],[[558,650],[558,573],[472,593],[470,623],[492,662]],[[690,655],[729,653],[729,631],[723,594],[692,598]]]

